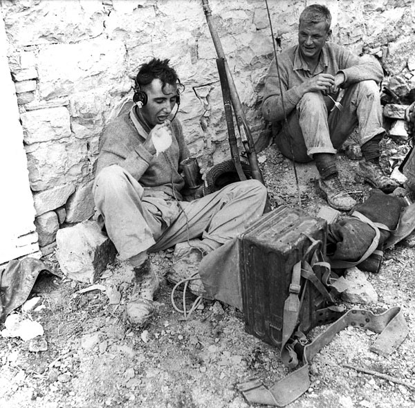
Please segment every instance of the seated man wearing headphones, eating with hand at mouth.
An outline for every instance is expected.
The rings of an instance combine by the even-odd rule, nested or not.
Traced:
[[[205,254],[237,237],[261,216],[266,203],[266,188],[257,180],[183,201],[185,182],[179,171],[190,152],[180,122],[172,117],[180,103],[179,87],[168,59],[142,64],[133,101],[104,129],[98,156],[93,189],[98,223],[118,258],[133,266],[136,283],[127,316],[139,326],[154,313],[159,286],[148,252],[192,240],[181,254],[192,275]],[[208,295],[214,297],[214,290]]]

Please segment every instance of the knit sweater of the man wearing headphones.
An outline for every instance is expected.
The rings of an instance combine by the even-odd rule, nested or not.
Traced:
[[[190,156],[181,123],[175,118],[169,125],[172,145],[163,153],[151,154],[142,145],[148,133],[133,116],[133,106],[133,102],[124,104],[119,115],[104,129],[96,174],[104,167],[120,165],[136,178],[147,195],[164,192],[181,199],[184,180],[178,172],[179,165]]]

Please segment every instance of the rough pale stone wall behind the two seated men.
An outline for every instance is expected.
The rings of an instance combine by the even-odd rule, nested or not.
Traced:
[[[311,1],[268,0],[277,50],[297,41]],[[415,87],[412,0],[322,1],[333,41],[375,55],[399,95]],[[104,124],[132,96],[138,66],[171,59],[185,93],[179,117],[206,164],[229,158],[216,52],[199,0],[0,0],[18,97],[39,245],[52,250],[59,225],[93,214],[91,183]],[[273,46],[262,0],[211,0],[252,133],[266,140],[261,92]],[[264,146],[264,143],[262,144]]]

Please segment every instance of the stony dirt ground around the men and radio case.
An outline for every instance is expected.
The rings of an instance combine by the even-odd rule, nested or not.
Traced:
[[[386,166],[407,149],[390,139],[383,144]],[[298,207],[292,163],[273,145],[259,154],[259,160],[273,206]],[[345,187],[362,201],[369,187],[353,181],[357,162],[344,153],[338,160]],[[302,210],[314,216],[325,204],[317,171],[313,164],[297,165],[297,174]],[[290,408],[415,407],[414,245],[414,237],[405,239],[385,252],[378,274],[367,273],[378,293],[377,304],[345,304],[375,313],[391,306],[403,308],[409,326],[403,344],[382,357],[369,351],[376,334],[347,328],[315,356],[311,387]],[[271,386],[289,372],[279,350],[246,333],[239,310],[207,300],[187,320],[174,310],[172,285],[165,280],[172,268],[172,250],[151,257],[163,285],[158,314],[142,330],[131,327],[124,313],[131,269],[110,265],[97,282],[122,295],[119,304],[111,304],[102,290],[77,293],[88,285],[63,277],[53,255],[44,261],[61,278],[39,277],[31,296],[41,297],[45,307],[26,314],[44,327],[47,350],[36,351],[30,341],[0,337],[1,408],[244,408],[249,405],[236,384],[258,378]],[[180,295],[176,301],[180,304]],[[316,328],[308,337],[320,331]],[[345,365],[385,373],[412,388]]]

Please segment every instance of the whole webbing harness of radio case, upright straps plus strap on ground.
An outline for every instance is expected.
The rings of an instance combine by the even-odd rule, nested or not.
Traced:
[[[399,307],[390,308],[380,315],[374,315],[369,310],[352,309],[339,317],[310,344],[306,344],[305,336],[301,337],[302,333],[297,336],[298,340],[295,340],[295,344],[293,344],[293,334],[299,324],[299,312],[302,304],[299,299],[300,278],[304,277],[311,281],[329,304],[332,304],[331,293],[324,287],[319,277],[329,288],[332,286],[338,291],[341,291],[342,288],[340,288],[341,284],[338,287],[335,284],[331,285],[329,271],[330,266],[325,262],[314,263],[313,268],[306,261],[295,264],[289,295],[284,304],[281,357],[286,367],[297,367],[299,361],[302,366],[276,382],[270,389],[259,380],[250,380],[238,384],[239,391],[243,393],[248,402],[284,407],[302,396],[311,384],[308,376],[311,359],[333,340],[336,333],[348,326],[356,326],[380,333],[376,343],[370,348],[371,351],[380,355],[389,355],[407,336],[409,330]],[[337,308],[338,306],[329,306],[329,308],[326,308],[326,313],[340,315],[342,310]]]

